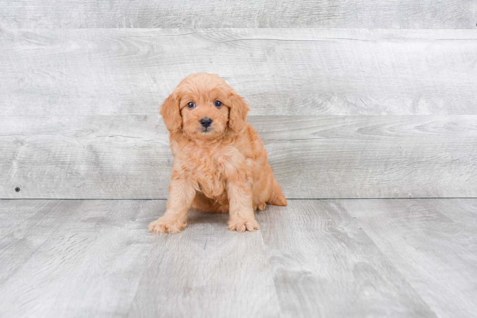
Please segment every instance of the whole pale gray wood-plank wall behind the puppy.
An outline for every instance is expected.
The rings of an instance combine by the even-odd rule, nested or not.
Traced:
[[[0,7],[0,198],[166,198],[157,107],[202,71],[288,198],[477,196],[477,1]]]

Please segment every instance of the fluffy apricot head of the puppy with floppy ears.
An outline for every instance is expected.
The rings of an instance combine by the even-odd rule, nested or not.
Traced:
[[[167,130],[200,140],[238,133],[248,111],[244,98],[219,75],[203,72],[185,77],[160,107]]]

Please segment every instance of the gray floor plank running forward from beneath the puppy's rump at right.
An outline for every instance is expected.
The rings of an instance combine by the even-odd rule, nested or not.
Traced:
[[[342,201],[257,213],[283,316],[436,317]]]

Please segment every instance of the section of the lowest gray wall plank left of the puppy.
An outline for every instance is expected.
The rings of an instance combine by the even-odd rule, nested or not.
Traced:
[[[6,193],[55,199],[167,197],[172,154],[160,115],[23,117],[2,123]],[[20,192],[11,188],[14,184]]]

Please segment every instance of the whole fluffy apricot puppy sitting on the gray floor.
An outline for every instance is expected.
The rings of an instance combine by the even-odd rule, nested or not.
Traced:
[[[230,230],[255,231],[256,209],[287,205],[262,141],[245,122],[248,111],[216,74],[188,75],[164,100],[160,113],[174,164],[165,213],[149,224],[150,232],[182,231],[191,206],[229,212]]]

